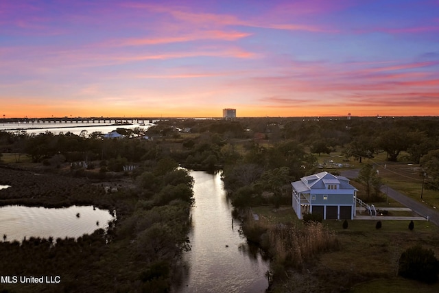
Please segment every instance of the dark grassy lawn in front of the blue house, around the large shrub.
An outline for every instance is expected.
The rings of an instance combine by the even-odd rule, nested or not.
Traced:
[[[337,233],[340,250],[324,253],[320,263],[329,270],[351,270],[385,278],[358,285],[354,292],[425,292],[418,288],[422,283],[404,281],[396,277],[401,253],[410,246],[420,244],[439,255],[439,228],[426,221],[415,222],[413,231],[408,229],[409,221],[384,221],[381,229],[375,228],[375,221],[349,221],[348,228],[342,228],[341,221],[325,221]],[[377,287],[379,285],[379,287]],[[391,287],[389,287],[391,286]],[[439,284],[427,286],[429,292],[439,292]],[[403,291],[405,290],[405,291]]]

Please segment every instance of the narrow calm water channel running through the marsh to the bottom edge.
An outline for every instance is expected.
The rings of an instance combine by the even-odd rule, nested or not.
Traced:
[[[237,220],[232,226],[232,207],[220,174],[191,172],[191,176],[195,180],[192,249],[184,255],[190,268],[178,292],[265,292],[269,261],[248,246]]]

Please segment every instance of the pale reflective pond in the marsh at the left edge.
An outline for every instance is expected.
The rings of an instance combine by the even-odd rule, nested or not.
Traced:
[[[98,228],[108,228],[108,222],[114,219],[108,211],[91,206],[47,209],[12,205],[0,207],[0,234],[7,235],[10,242],[32,236],[78,238]]]

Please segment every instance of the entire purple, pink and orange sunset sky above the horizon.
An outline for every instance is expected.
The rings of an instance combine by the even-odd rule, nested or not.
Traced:
[[[439,0],[0,0],[0,115],[439,115]]]

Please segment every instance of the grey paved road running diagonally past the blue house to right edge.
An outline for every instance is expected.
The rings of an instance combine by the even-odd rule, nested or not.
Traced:
[[[342,171],[341,174],[346,178],[357,178],[358,170],[346,170]],[[405,207],[412,209],[412,211],[423,216],[424,218],[429,217],[429,221],[436,224],[436,226],[439,226],[439,211],[436,209],[427,206],[427,204],[424,204],[423,202],[409,198],[408,196],[401,194],[401,192],[398,192],[391,187],[387,188],[386,185],[381,187],[381,192],[384,194],[388,192],[388,196],[390,198],[393,198],[397,202],[401,202],[401,204],[404,204]]]

